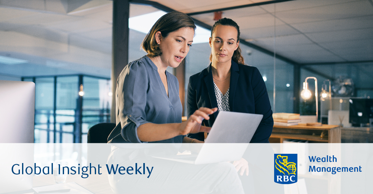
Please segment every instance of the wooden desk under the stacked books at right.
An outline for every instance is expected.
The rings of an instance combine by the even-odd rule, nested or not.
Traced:
[[[269,142],[282,143],[284,139],[308,140],[310,143],[341,143],[341,127],[339,125],[274,125]]]

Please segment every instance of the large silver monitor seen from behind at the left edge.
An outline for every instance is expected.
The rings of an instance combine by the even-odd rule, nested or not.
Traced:
[[[33,174],[11,169],[34,166],[35,84],[0,80],[0,108],[0,193],[29,190]]]

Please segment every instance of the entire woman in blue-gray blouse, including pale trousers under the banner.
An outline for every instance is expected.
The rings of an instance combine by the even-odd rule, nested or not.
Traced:
[[[126,166],[127,174],[109,175],[115,193],[243,193],[235,168],[228,162],[191,165],[150,157],[154,153],[176,154],[174,147],[180,144],[174,143],[201,142],[185,135],[208,132],[209,127],[201,127],[202,120],[217,111],[201,107],[181,122],[179,83],[166,71],[184,62],[195,28],[191,17],[184,13],[165,14],[142,42],[148,54],[126,65],[119,75],[117,126],[108,138],[118,144],[113,144],[107,164]],[[121,144],[146,142],[172,144]],[[137,168],[138,164],[144,166],[131,176],[127,166]]]

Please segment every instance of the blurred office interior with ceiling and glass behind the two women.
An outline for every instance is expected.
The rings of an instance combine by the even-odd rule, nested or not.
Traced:
[[[319,94],[330,80],[332,108],[317,97],[324,123],[328,110],[373,97],[372,0],[0,0],[0,80],[35,83],[35,142],[87,142],[91,126],[113,121],[112,80],[146,54],[145,34],[172,10],[198,25],[185,66],[167,69],[183,106],[189,76],[209,65],[210,27],[221,17],[240,26],[245,64],[260,70],[273,112],[315,114],[315,97],[300,97],[306,77],[317,78]]]

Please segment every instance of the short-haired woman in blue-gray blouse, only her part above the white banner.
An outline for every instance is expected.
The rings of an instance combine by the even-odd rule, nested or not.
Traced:
[[[180,12],[165,14],[153,25],[142,42],[148,54],[126,65],[117,80],[117,126],[110,143],[197,143],[185,135],[210,130],[201,123],[216,108],[202,107],[181,122],[179,83],[166,71],[184,62],[195,28],[191,17]]]

